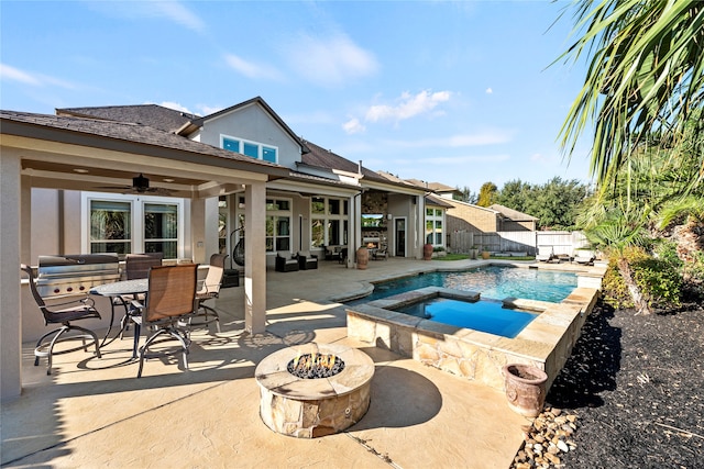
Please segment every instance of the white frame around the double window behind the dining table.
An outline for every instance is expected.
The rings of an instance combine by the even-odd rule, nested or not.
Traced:
[[[186,224],[189,223],[185,219],[185,200],[170,197],[154,196],[130,196],[109,192],[81,192],[80,200],[80,246],[84,253],[90,253],[90,202],[96,201],[113,201],[130,203],[132,253],[144,253],[144,246],[147,239],[144,238],[144,205],[147,203],[176,205],[178,216],[178,239],[177,239],[177,258],[183,258],[186,252]]]

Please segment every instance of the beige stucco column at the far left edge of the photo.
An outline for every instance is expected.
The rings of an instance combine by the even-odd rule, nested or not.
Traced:
[[[0,399],[22,392],[20,156],[0,152]],[[26,233],[29,239],[29,233]]]

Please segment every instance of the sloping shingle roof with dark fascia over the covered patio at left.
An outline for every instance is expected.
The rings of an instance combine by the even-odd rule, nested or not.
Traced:
[[[237,163],[235,166],[242,170],[268,174],[275,178],[288,175],[288,168],[273,163],[194,142],[148,125],[3,110],[0,110],[0,121],[2,122],[2,133],[8,135],[31,136],[57,143],[142,153],[163,158],[175,157],[174,152],[185,152],[191,155],[179,154],[184,159],[199,160],[204,156],[209,156],[213,158],[210,164],[215,166],[233,167],[232,163]],[[91,136],[102,138],[90,138]],[[135,144],[140,145],[139,150],[133,147]],[[218,160],[223,163],[218,164]]]

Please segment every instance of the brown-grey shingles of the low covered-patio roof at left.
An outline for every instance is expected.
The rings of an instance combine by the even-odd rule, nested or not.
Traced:
[[[277,176],[284,176],[287,174],[287,168],[284,168],[282,166],[268,161],[253,159],[249,156],[240,155],[239,153],[233,153],[222,148],[217,148],[215,146],[207,145],[200,142],[190,141],[188,138],[184,138],[182,136],[175,135],[169,132],[164,132],[148,125],[87,118],[72,118],[66,115],[34,114],[29,112],[4,110],[0,110],[0,121],[31,124],[45,129],[61,130],[74,134],[81,134],[84,136],[103,137],[100,141],[95,138],[90,141],[90,144],[96,147],[116,146],[114,144],[109,144],[108,142],[106,142],[106,139],[121,141],[127,143],[148,145],[161,150],[165,148],[240,161],[242,164],[245,164],[249,168],[252,168],[252,170],[256,172],[271,172],[276,174]],[[10,129],[9,125],[4,125],[4,123],[1,130],[3,134],[14,133],[13,129]],[[45,136],[40,132],[33,132],[30,135],[35,138],[50,139],[48,136]],[[52,135],[52,138],[54,138],[55,136],[56,135]]]

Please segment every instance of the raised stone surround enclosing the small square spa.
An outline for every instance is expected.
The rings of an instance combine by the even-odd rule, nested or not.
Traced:
[[[470,301],[480,297],[428,287],[351,306],[346,310],[348,336],[498,390],[504,390],[505,365],[531,365],[546,371],[550,389],[596,303],[598,289],[578,286],[561,303],[504,300],[510,308],[540,313],[515,338],[391,311],[439,295]]]

